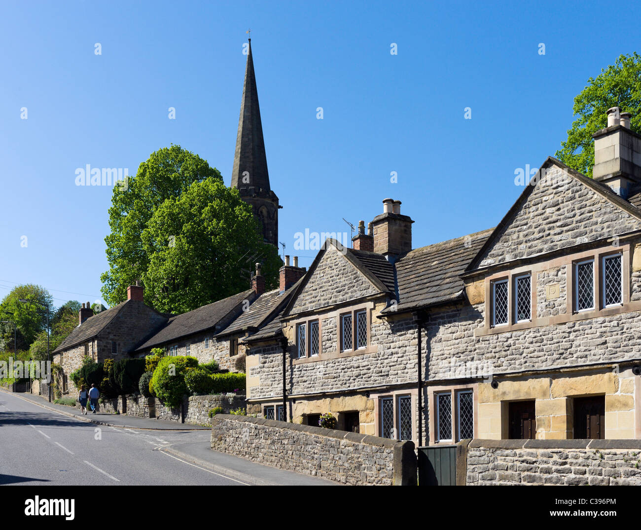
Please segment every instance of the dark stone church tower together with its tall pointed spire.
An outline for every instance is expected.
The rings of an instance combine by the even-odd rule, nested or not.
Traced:
[[[262,226],[263,240],[278,248],[278,209],[281,206],[278,205],[278,197],[269,187],[263,126],[260,122],[254,61],[251,56],[251,38],[240,103],[231,185],[238,188],[242,200],[249,203],[254,210],[254,216]]]

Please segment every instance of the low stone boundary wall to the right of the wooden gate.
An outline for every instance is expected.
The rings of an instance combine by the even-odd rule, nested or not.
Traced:
[[[468,486],[641,486],[641,440],[472,440]]]

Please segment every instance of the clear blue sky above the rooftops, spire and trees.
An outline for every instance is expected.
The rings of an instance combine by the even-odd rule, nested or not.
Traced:
[[[101,297],[112,190],[77,187],[78,167],[135,174],[174,143],[229,184],[247,28],[279,239],[294,255],[296,232],[349,232],[342,218],[367,223],[387,197],[414,219],[415,247],[494,226],[522,191],[515,169],[538,167],[565,139],[588,78],[641,51],[640,11],[3,1],[0,298],[11,282],[41,284],[58,304]],[[307,266],[315,252],[299,254]]]

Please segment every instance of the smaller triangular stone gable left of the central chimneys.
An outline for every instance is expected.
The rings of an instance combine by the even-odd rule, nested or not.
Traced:
[[[290,312],[313,311],[328,305],[349,302],[379,290],[334,246],[328,249],[312,277],[297,296]]]

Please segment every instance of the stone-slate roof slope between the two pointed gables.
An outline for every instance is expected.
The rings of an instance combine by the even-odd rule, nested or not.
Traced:
[[[399,303],[395,311],[429,307],[462,299],[459,275],[494,228],[417,248],[396,261]],[[392,306],[383,311],[393,312]]]

